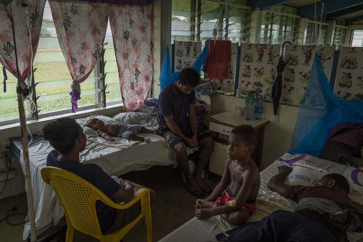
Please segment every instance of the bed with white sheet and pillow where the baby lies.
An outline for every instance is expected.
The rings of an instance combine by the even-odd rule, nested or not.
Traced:
[[[207,115],[210,113],[211,100],[208,95],[200,95],[198,100],[205,102]],[[140,171],[150,168],[153,165],[176,165],[176,155],[166,139],[160,135],[143,134],[150,138],[150,143],[142,141],[132,141],[121,138],[115,138],[115,141],[107,141],[97,134],[97,131],[86,126],[86,122],[91,117],[102,118],[103,121],[118,121],[120,123],[138,123],[152,129],[157,127],[157,102],[158,100],[150,100],[150,106],[144,106],[145,112],[129,112],[120,113],[113,119],[102,116],[93,115],[87,118],[76,119],[81,125],[86,135],[86,149],[81,152],[79,159],[83,163],[94,163],[99,165],[109,175],[122,175],[130,171]],[[152,104],[154,102],[154,104]],[[147,103],[147,102],[145,102]],[[156,103],[156,104],[155,104]],[[153,106],[154,105],[154,106]],[[142,108],[142,106],[141,106]],[[11,147],[17,149],[12,151],[19,156],[20,164],[23,167],[23,154],[21,151],[21,141]],[[19,143],[20,142],[20,143]],[[48,141],[38,140],[36,145],[30,145],[29,161],[30,175],[32,177],[32,189],[34,200],[34,215],[37,234],[42,233],[52,225],[57,225],[64,216],[62,206],[57,199],[53,188],[49,184],[45,184],[42,180],[40,170],[46,166],[46,157],[53,149]],[[27,217],[26,220],[29,220]],[[30,234],[30,222],[26,222],[23,232],[23,240],[26,240]]]

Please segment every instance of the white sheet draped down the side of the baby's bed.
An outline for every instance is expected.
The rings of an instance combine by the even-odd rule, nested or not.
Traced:
[[[141,142],[128,149],[119,149],[87,141],[86,149],[80,153],[80,161],[99,165],[110,175],[122,175],[129,171],[144,170],[152,165],[171,165],[176,163],[175,152],[167,141],[159,135],[143,134],[151,139],[150,143]],[[42,180],[40,170],[46,166],[46,157],[52,150],[49,142],[29,148],[30,175],[34,200],[34,215],[37,234],[56,225],[64,216],[62,206],[53,188]],[[23,167],[23,153],[20,156]],[[27,217],[27,221],[29,218]],[[30,234],[30,222],[25,223],[23,240]]]

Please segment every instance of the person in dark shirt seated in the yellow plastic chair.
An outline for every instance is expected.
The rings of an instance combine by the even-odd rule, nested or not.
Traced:
[[[48,154],[47,166],[62,168],[82,177],[114,202],[129,202],[134,198],[137,190],[145,188],[130,181],[111,177],[96,164],[81,163],[79,152],[86,147],[86,136],[74,119],[60,118],[45,124],[41,136],[45,140],[49,140],[50,145],[55,149]],[[155,192],[151,189],[148,190],[150,203],[152,203]],[[116,231],[138,217],[141,206],[138,201],[127,209],[115,209],[97,201],[96,212],[101,231],[103,234],[107,234]]]

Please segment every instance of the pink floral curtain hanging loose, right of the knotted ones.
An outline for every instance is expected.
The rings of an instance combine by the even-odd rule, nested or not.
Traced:
[[[152,81],[152,6],[112,6],[109,20],[124,108],[134,111],[147,98]]]

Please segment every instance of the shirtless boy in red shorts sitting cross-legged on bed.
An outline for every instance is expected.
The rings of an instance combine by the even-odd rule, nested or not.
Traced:
[[[257,139],[256,130],[248,124],[232,129],[222,179],[206,200],[196,201],[198,219],[220,214],[225,221],[242,225],[252,216],[261,185],[260,171],[250,157]]]

